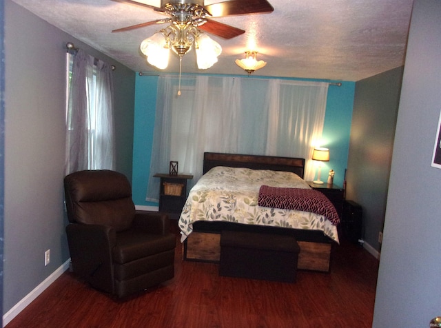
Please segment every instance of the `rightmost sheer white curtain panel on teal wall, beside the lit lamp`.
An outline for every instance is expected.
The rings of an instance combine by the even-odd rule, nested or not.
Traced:
[[[265,154],[302,157],[305,180],[314,180],[310,159],[320,146],[328,83],[272,80],[268,88],[268,134]]]

